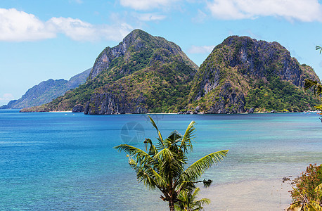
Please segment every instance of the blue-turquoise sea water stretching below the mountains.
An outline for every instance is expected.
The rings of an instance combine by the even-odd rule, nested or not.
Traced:
[[[223,149],[214,185],[297,175],[322,162],[316,114],[153,115],[163,136],[195,120],[191,162]],[[138,124],[139,123],[139,124]],[[0,210],[167,210],[112,147],[155,140],[146,115],[0,110]],[[157,207],[157,209],[155,209]]]

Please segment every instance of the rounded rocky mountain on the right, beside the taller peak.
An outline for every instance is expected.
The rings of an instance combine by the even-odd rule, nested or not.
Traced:
[[[231,36],[213,49],[196,73],[188,112],[307,110],[318,101],[303,91],[305,78],[320,81],[311,67],[300,65],[278,42]]]

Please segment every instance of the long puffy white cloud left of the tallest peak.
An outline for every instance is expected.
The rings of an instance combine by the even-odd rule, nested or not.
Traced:
[[[58,33],[76,41],[120,40],[133,27],[127,23],[92,25],[75,18],[56,18],[44,22],[33,14],[15,8],[0,8],[0,41],[35,41],[49,39]]]

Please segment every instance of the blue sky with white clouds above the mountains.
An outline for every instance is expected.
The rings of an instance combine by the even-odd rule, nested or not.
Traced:
[[[278,41],[322,78],[322,0],[1,0],[0,106],[91,68],[135,29],[173,41],[197,65],[231,35]]]

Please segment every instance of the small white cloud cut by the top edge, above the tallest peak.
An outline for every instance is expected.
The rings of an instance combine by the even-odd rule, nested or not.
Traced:
[[[122,6],[134,8],[135,10],[149,10],[152,8],[167,7],[178,0],[120,0]]]

